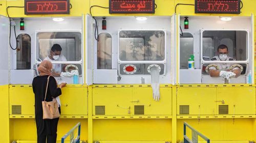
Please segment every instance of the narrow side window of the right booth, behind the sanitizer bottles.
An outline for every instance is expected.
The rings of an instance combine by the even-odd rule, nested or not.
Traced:
[[[188,69],[187,61],[194,53],[194,38],[190,33],[180,36],[180,69]]]

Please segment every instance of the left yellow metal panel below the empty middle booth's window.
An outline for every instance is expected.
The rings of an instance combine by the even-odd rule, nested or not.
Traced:
[[[105,115],[130,115],[132,88],[94,88],[93,115],[95,106],[105,106]]]

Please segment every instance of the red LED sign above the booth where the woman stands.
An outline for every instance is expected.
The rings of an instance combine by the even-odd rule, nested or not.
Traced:
[[[69,0],[25,0],[25,14],[69,14]]]

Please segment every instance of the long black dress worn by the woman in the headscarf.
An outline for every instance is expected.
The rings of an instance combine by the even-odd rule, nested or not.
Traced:
[[[59,118],[46,120],[42,119],[42,101],[45,100],[47,78],[48,75],[37,76],[33,79],[32,83],[33,92],[35,94],[35,121],[37,136],[54,135],[57,132]],[[51,76],[49,79],[46,101],[52,101],[52,97],[58,97],[59,95],[61,95],[61,89],[57,88],[56,80]]]

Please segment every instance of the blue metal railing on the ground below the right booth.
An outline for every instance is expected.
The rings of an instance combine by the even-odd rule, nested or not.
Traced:
[[[186,136],[186,127],[191,129],[192,131],[192,139],[189,139],[188,136]],[[210,139],[201,134],[199,131],[188,125],[186,122],[184,122],[184,143],[198,143],[198,136],[202,137],[207,143],[210,143]]]

